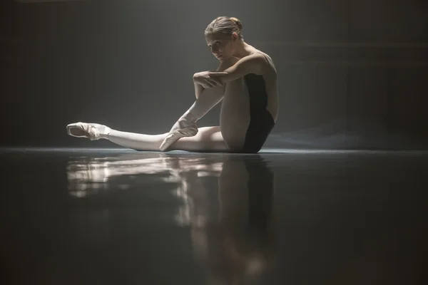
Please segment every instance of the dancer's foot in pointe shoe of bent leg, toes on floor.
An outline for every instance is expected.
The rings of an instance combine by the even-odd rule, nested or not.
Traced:
[[[161,143],[159,150],[165,151],[174,142],[183,137],[193,137],[198,133],[198,126],[195,123],[195,118],[190,113],[186,113],[185,116],[173,125],[173,128],[169,131],[166,138]]]

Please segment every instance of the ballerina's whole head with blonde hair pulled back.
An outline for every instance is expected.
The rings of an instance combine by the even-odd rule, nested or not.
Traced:
[[[220,16],[205,28],[205,40],[213,55],[220,61],[233,56],[235,48],[243,43],[243,25],[236,18]]]

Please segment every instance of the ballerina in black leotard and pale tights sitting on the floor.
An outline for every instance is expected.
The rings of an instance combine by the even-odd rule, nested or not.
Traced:
[[[79,122],[67,125],[68,135],[104,138],[134,150],[258,152],[277,120],[277,72],[272,58],[245,43],[236,18],[214,19],[205,29],[205,40],[220,65],[215,72],[193,75],[195,103],[169,133],[143,135]],[[198,120],[221,100],[220,126],[198,128]]]

